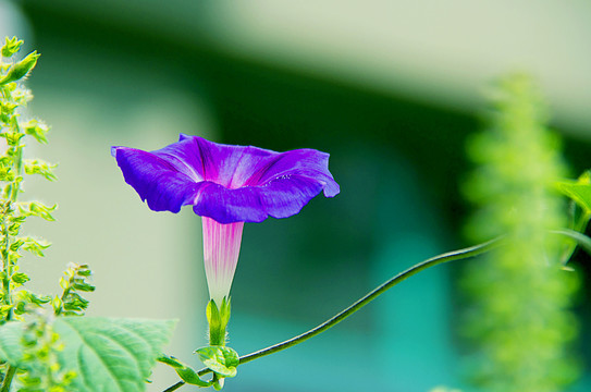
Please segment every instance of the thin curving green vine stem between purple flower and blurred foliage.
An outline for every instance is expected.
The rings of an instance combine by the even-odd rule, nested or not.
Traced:
[[[249,363],[251,360],[258,359],[260,357],[263,357],[263,356],[280,352],[282,350],[290,348],[290,347],[292,347],[292,346],[294,346],[296,344],[299,344],[299,343],[301,343],[301,342],[304,342],[304,341],[306,341],[306,340],[308,340],[310,338],[313,338],[313,336],[318,335],[319,333],[324,332],[329,328],[334,327],[335,324],[343,321],[347,317],[352,316],[354,313],[356,313],[357,310],[359,310],[360,308],[362,308],[364,306],[369,304],[371,301],[375,299],[378,296],[385,293],[387,290],[394,287],[396,284],[398,284],[398,283],[403,282],[404,280],[413,277],[414,274],[419,273],[419,272],[421,272],[421,271],[423,271],[423,270],[426,270],[428,268],[435,267],[435,266],[438,266],[440,264],[476,257],[478,255],[487,253],[487,252],[493,249],[494,247],[498,246],[498,243],[500,243],[501,240],[502,240],[502,237],[497,237],[497,238],[491,240],[489,242],[485,242],[485,243],[482,243],[482,244],[479,244],[479,245],[475,245],[475,246],[464,248],[464,249],[459,249],[459,250],[450,252],[450,253],[446,253],[446,254],[439,255],[439,256],[435,256],[433,258],[427,259],[424,261],[421,261],[421,262],[410,267],[406,271],[401,272],[401,273],[394,275],[393,278],[391,278],[390,280],[385,281],[384,283],[382,283],[378,287],[373,289],[373,291],[369,292],[364,297],[359,298],[354,304],[352,304],[350,306],[348,306],[347,308],[345,308],[341,313],[336,314],[332,318],[328,319],[327,321],[322,322],[318,327],[312,328],[308,332],[305,332],[305,333],[303,333],[300,335],[288,339],[288,340],[286,340],[284,342],[281,342],[281,343],[274,344],[272,346],[269,346],[267,348],[262,348],[262,350],[259,350],[257,352],[244,355],[244,356],[241,357],[239,364],[243,365],[243,364]],[[207,375],[209,372],[211,372],[211,369],[204,368],[204,369],[198,371],[198,375],[204,376],[204,375]],[[178,388],[183,387],[184,384],[185,384],[184,381],[178,381],[174,385],[169,387],[168,389],[165,389],[163,392],[173,392],[173,391],[177,390]]]

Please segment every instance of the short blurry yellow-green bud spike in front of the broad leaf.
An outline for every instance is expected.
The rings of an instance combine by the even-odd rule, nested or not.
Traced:
[[[58,333],[51,323],[39,318],[26,327],[22,339],[23,363],[29,364],[19,372],[19,392],[65,392],[76,377],[74,371],[63,370],[58,353],[63,351]]]

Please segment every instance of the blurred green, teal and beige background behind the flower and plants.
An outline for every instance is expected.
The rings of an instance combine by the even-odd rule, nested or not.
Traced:
[[[110,146],[157,149],[182,132],[316,148],[331,154],[342,193],[246,225],[230,344],[246,354],[304,332],[395,272],[468,245],[464,144],[501,74],[540,81],[572,174],[591,167],[590,17],[586,0],[0,0],[0,36],[42,54],[30,111],[52,125],[51,144],[32,154],[60,164],[59,182],[26,188],[60,205],[58,222],[32,229],[54,243],[47,260],[30,260],[33,278],[56,291],[66,262],[88,262],[89,315],[178,318],[169,354],[198,366],[200,220],[188,208],[150,211]],[[590,260],[577,257],[589,277]],[[421,273],[320,338],[241,367],[226,390],[464,387],[459,272]],[[577,309],[587,373],[589,290]],[[176,378],[158,368],[153,380],[149,391]]]

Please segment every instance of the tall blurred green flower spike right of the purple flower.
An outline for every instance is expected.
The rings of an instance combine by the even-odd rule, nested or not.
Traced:
[[[479,345],[473,378],[490,391],[561,391],[580,372],[568,352],[578,333],[568,310],[577,274],[561,268],[568,244],[550,233],[567,224],[551,191],[566,168],[531,78],[503,78],[491,102],[487,130],[468,145],[478,167],[466,195],[479,210],[466,229],[472,241],[505,234],[506,245],[466,271],[467,333]]]

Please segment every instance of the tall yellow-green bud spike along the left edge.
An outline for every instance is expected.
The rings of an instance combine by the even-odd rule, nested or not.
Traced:
[[[33,52],[21,61],[12,61],[23,41],[7,38],[0,59],[0,137],[7,148],[0,156],[0,256],[2,270],[0,282],[0,323],[22,316],[47,304],[50,298],[36,295],[23,289],[29,280],[19,270],[19,259],[23,252],[44,257],[49,243],[32,236],[22,236],[21,228],[28,217],[40,217],[53,221],[51,212],[57,206],[46,206],[39,201],[20,201],[24,176],[38,174],[53,181],[54,166],[40,159],[23,159],[27,136],[39,143],[47,143],[48,126],[38,120],[23,121],[22,108],[33,98],[21,81],[33,70],[39,54]],[[8,62],[4,62],[8,59]]]

